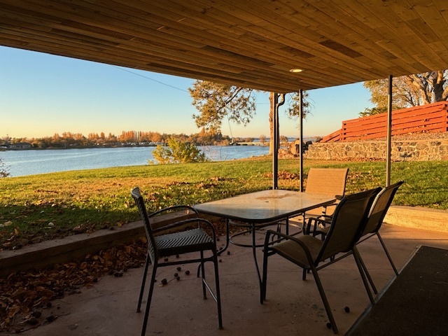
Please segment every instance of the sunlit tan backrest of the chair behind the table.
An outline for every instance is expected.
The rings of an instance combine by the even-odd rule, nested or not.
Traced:
[[[310,168],[305,193],[344,196],[348,168]]]

